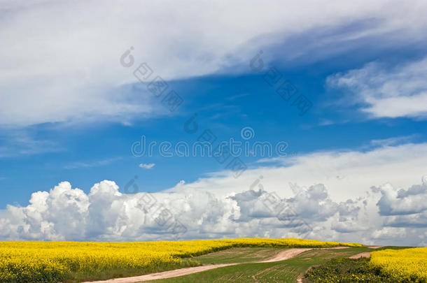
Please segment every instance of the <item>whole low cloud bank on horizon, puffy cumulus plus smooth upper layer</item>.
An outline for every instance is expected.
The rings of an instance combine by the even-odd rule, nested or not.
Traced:
[[[138,192],[138,188],[131,191],[135,194],[122,194],[118,185],[108,180],[94,184],[85,194],[69,182],[60,182],[50,191],[32,194],[25,207],[8,205],[0,211],[0,239],[304,237],[423,246],[427,244],[427,175],[421,184],[406,188],[393,185],[419,179],[414,176],[423,170],[420,167],[427,160],[427,144],[419,146],[419,164],[408,156],[410,152],[412,147],[407,144],[365,153],[323,152],[317,157],[297,157],[291,166],[254,168],[244,179],[236,180],[225,171],[194,183],[181,181],[172,189],[152,194]],[[359,164],[349,162],[354,160]],[[289,184],[290,190],[283,189],[288,187],[289,174],[307,173],[313,162],[325,162],[331,168],[324,168],[323,177],[314,175],[305,182],[321,180],[325,184]],[[334,166],[342,168],[342,175],[333,175]],[[387,166],[395,166],[402,174],[389,179],[391,182],[372,184],[387,176],[389,170],[381,175]],[[372,177],[374,174],[379,178]],[[251,182],[248,176],[253,176]],[[348,178],[365,182],[349,183]],[[353,196],[345,198],[349,196],[346,194],[338,201],[337,190],[354,190]],[[272,198],[279,199],[280,204]],[[285,213],[286,209],[291,212]]]

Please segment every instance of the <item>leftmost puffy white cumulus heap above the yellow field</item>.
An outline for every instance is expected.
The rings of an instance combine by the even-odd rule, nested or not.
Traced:
[[[69,182],[54,189],[37,191],[25,208],[8,205],[6,218],[1,219],[4,238],[25,240],[64,240],[84,238],[89,197]]]

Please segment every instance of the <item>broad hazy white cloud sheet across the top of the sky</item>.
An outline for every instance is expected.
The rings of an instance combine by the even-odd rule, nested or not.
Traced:
[[[151,94],[132,94],[124,87],[137,82],[132,75],[136,65],[119,64],[130,46],[136,62],[146,61],[157,75],[174,80],[249,71],[248,61],[261,48],[312,35],[313,29],[325,38],[317,38],[309,50],[307,41],[288,42],[295,52],[284,56],[302,57],[325,44],[372,36],[411,43],[424,37],[427,22],[425,1],[100,3],[0,2],[1,124],[128,123],[135,115],[161,114]],[[367,19],[375,21],[328,33]],[[268,56],[266,63],[272,59]]]

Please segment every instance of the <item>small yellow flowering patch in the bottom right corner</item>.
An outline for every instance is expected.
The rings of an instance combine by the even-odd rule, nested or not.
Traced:
[[[427,247],[384,249],[371,253],[371,264],[379,266],[396,282],[427,281]]]

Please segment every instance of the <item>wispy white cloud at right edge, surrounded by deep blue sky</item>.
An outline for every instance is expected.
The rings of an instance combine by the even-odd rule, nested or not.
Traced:
[[[427,117],[427,57],[398,66],[373,62],[327,78],[329,87],[344,89],[353,103],[373,118]]]

